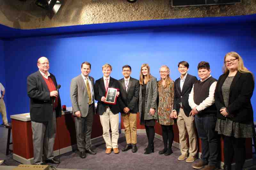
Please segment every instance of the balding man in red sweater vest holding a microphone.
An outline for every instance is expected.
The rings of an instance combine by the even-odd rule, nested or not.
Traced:
[[[56,117],[61,116],[60,96],[57,82],[49,73],[49,61],[41,57],[37,61],[38,71],[27,78],[28,97],[30,98],[30,119],[33,132],[34,162],[53,164],[60,162],[53,158],[53,144],[56,136]]]

